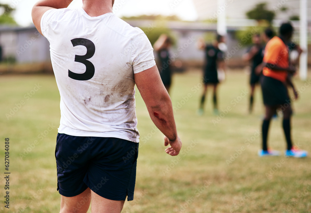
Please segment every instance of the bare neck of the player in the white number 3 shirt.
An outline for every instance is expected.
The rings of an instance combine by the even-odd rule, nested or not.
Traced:
[[[101,16],[112,12],[112,1],[83,1],[83,10],[91,17]]]

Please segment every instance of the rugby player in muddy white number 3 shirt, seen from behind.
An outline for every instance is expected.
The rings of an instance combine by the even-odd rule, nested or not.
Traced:
[[[112,13],[113,0],[41,0],[32,10],[50,43],[60,93],[55,150],[60,212],[120,213],[133,200],[139,133],[135,84],[151,120],[164,133],[165,152],[178,155],[169,98],[146,35]]]

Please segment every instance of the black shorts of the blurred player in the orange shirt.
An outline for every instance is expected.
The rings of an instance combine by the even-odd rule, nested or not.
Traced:
[[[290,103],[286,86],[279,80],[262,76],[261,89],[263,103],[268,106],[276,106]]]

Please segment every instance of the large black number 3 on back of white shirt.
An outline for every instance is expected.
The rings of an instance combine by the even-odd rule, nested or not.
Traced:
[[[86,70],[84,73],[75,73],[68,70],[68,76],[72,79],[78,80],[78,81],[87,81],[90,80],[95,73],[95,67],[94,65],[86,60],[89,58],[92,58],[95,53],[95,45],[93,42],[91,42],[89,39],[83,39],[83,38],[77,38],[71,40],[72,45],[78,46],[82,45],[86,47],[86,54],[85,55],[76,55],[75,62],[79,62],[85,65]]]

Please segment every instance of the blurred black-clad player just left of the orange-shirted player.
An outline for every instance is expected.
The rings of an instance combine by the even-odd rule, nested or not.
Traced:
[[[243,55],[245,61],[251,61],[250,86],[251,94],[249,97],[249,113],[253,111],[254,91],[256,84],[259,83],[260,76],[255,72],[256,67],[262,63],[263,47],[261,44],[260,34],[255,34],[252,37],[253,46]]]

